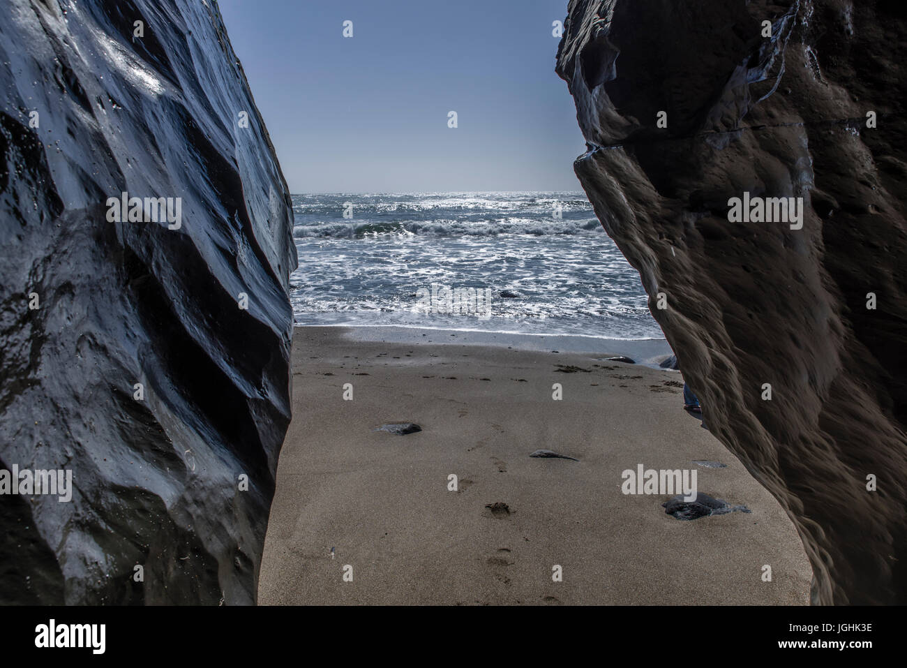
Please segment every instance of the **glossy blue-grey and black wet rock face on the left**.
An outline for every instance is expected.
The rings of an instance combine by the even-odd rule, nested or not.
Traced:
[[[217,5],[11,0],[0,87],[0,469],[73,485],[0,502],[0,603],[251,604],[296,251]]]

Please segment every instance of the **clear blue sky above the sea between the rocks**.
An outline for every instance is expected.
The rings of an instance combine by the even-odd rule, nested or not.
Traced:
[[[291,192],[580,190],[567,0],[219,6]]]

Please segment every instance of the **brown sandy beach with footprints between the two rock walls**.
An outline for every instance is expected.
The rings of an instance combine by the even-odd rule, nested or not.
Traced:
[[[259,604],[809,603],[794,526],[682,409],[678,372],[436,331],[359,337],[295,331]],[[388,422],[423,430],[375,431]],[[580,461],[529,457],[540,448]],[[668,496],[621,493],[639,464],[696,468],[700,492],[752,512],[675,519]]]

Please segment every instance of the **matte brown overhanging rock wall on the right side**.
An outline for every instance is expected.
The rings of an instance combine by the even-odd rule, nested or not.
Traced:
[[[709,429],[791,516],[814,602],[907,602],[907,4],[571,0],[565,28],[575,171]],[[730,222],[745,193],[802,197],[802,229]]]

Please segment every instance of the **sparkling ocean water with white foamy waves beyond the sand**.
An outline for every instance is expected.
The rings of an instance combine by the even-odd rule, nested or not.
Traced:
[[[297,325],[663,338],[582,192],[293,195],[293,213]]]

